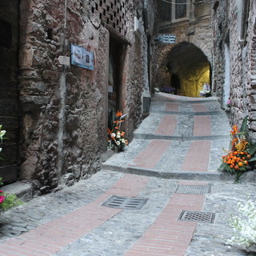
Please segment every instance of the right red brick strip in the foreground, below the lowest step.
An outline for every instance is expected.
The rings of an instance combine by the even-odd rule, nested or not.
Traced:
[[[206,186],[208,182],[180,181],[179,185]],[[182,210],[202,210],[202,194],[173,194],[162,213],[125,256],[182,256],[193,238],[197,222],[178,220]]]

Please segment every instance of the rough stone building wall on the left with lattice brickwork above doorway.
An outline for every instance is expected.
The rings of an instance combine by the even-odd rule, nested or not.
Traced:
[[[15,11],[9,2],[16,2]],[[127,114],[123,128],[132,138],[150,102],[154,50],[150,40],[155,32],[150,18],[154,21],[155,2],[4,0],[2,4],[20,14],[19,20],[0,15],[0,22],[13,26],[15,20],[15,30],[19,26],[19,41],[18,36],[13,38],[17,44],[10,49],[18,64],[8,63],[14,66],[10,77],[14,75],[15,89],[10,93],[18,109],[14,164],[18,178],[33,181],[34,189],[43,194],[99,169],[112,108]],[[74,57],[71,45],[86,50],[89,68],[61,64],[67,60],[62,56]],[[0,50],[3,55],[8,51],[5,46]],[[3,64],[1,71],[2,86]],[[1,101],[8,104],[4,98]],[[3,118],[2,123],[9,133]]]

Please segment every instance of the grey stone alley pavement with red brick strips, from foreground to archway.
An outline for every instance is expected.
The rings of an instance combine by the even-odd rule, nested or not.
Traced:
[[[162,122],[166,115],[165,121],[175,115],[174,127]],[[194,117],[205,115],[210,118],[195,124]],[[199,123],[201,128],[196,128]],[[210,134],[202,136],[205,127]],[[248,194],[256,199],[254,172],[234,184],[231,176],[217,171],[229,130],[226,114],[214,98],[158,94],[150,116],[136,130],[137,137],[101,171],[1,215],[0,256],[256,255],[226,245],[232,234],[230,214],[237,214],[237,203],[245,202]],[[188,155],[200,147],[191,151],[191,145],[205,141],[210,144],[193,162]],[[190,168],[185,165],[188,158]],[[199,170],[204,162],[206,170],[190,170],[194,166]],[[113,195],[131,199],[126,209],[102,206]],[[134,207],[134,198],[147,199],[142,209],[129,208]],[[190,211],[192,220],[186,218]],[[208,222],[209,216],[213,222]]]

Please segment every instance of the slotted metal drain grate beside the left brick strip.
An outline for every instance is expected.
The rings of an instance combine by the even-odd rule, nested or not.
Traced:
[[[102,206],[118,209],[141,210],[147,200],[147,198],[126,198],[114,195],[107,199],[106,202],[103,202]]]

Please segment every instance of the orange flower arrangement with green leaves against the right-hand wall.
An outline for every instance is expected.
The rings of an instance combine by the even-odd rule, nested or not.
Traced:
[[[248,170],[250,162],[256,160],[251,157],[256,151],[256,143],[251,145],[246,138],[247,121],[247,117],[244,118],[240,130],[237,125],[232,126],[231,149],[226,150],[227,154],[222,156],[222,165],[218,168],[218,170],[226,170],[235,174],[235,182],[238,182],[240,176]]]

